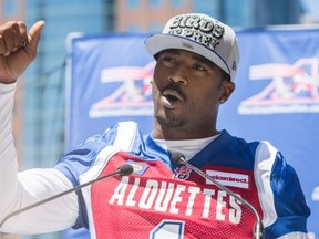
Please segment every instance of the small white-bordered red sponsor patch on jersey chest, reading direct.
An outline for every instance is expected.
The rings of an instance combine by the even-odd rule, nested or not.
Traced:
[[[249,189],[249,176],[244,174],[234,174],[228,172],[206,170],[206,174],[212,176],[216,181],[225,186]],[[207,185],[214,185],[206,179]]]

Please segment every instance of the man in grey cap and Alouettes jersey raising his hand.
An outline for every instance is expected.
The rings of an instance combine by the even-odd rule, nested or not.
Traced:
[[[92,238],[251,238],[254,214],[231,194],[185,165],[173,152],[224,181],[261,217],[265,238],[307,238],[298,177],[268,142],[247,143],[216,128],[219,105],[235,89],[237,39],[205,14],[172,18],[146,39],[156,66],[152,82],[153,131],[120,122],[65,154],[51,169],[17,174],[10,118],[16,80],[35,56],[43,22],[29,34],[22,22],[0,29],[0,219],[19,208],[116,170],[114,176],[10,217],[1,231],[41,233],[89,228]]]

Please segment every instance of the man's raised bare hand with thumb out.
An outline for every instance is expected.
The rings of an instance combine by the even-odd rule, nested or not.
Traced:
[[[29,33],[22,21],[0,25],[0,82],[13,83],[35,59],[43,21],[34,23]]]

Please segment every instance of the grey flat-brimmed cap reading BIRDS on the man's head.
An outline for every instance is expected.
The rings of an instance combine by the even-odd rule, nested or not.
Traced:
[[[155,55],[166,49],[197,53],[214,62],[234,81],[239,63],[238,42],[234,30],[202,13],[175,15],[160,34],[145,40],[146,51]]]

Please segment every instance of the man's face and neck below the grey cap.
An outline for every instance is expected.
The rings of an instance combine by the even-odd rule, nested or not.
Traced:
[[[153,136],[196,139],[218,134],[218,108],[235,89],[229,76],[207,59],[184,50],[156,55]]]

